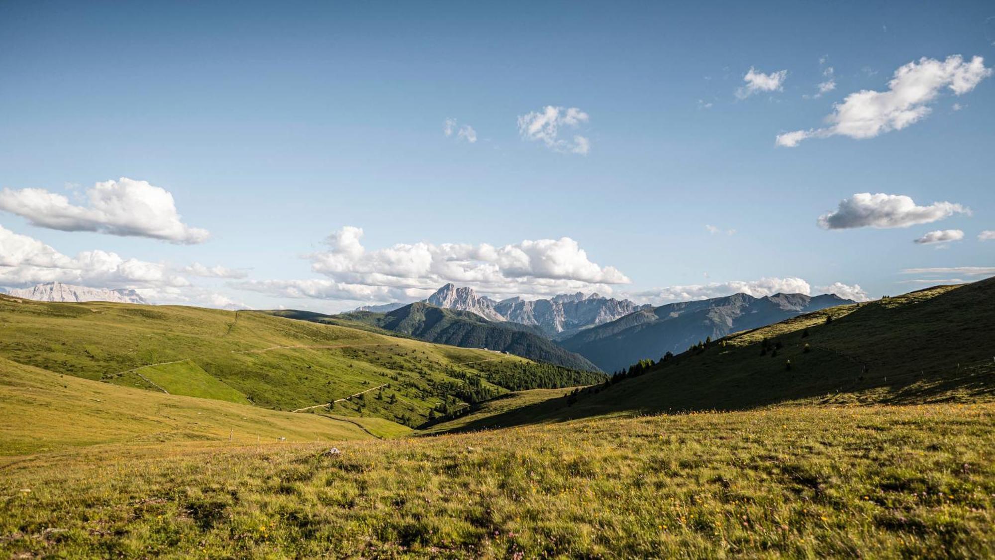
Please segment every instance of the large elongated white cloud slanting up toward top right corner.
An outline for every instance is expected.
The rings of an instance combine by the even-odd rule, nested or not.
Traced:
[[[833,113],[826,118],[828,127],[785,133],[777,137],[777,143],[791,147],[809,138],[870,139],[899,131],[929,115],[928,105],[944,88],[961,96],[991,74],[981,57],[970,62],[964,62],[960,55],[942,62],[923,57],[896,70],[887,92],[862,90],[834,105]]]

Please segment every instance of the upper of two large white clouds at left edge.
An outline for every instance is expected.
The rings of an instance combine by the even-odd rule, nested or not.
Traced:
[[[168,190],[147,181],[120,177],[87,190],[90,206],[70,203],[65,195],[42,188],[3,189],[0,210],[18,214],[32,224],[64,231],[97,231],[200,243],[208,231],[180,220]]]

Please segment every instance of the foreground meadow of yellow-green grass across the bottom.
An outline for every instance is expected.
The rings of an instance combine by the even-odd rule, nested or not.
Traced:
[[[324,454],[328,443],[163,443],[25,457],[0,469],[0,553],[995,554],[992,404],[576,420],[334,444],[340,455]]]

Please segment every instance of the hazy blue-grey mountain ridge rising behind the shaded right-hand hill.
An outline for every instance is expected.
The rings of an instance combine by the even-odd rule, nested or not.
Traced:
[[[640,360],[659,360],[668,352],[684,352],[709,337],[714,340],[846,303],[854,302],[832,294],[776,294],[762,298],[735,294],[642,309],[581,331],[559,344],[603,371],[615,372]]]

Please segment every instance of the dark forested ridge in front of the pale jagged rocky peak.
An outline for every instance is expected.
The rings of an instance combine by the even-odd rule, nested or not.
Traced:
[[[329,316],[311,312],[278,311],[283,317],[317,321],[331,325],[367,325],[438,344],[463,348],[487,348],[507,352],[536,362],[554,364],[578,371],[599,371],[589,360],[563,350],[537,328],[517,323],[494,323],[467,311],[443,309],[423,302],[406,305],[389,313],[354,311]]]

